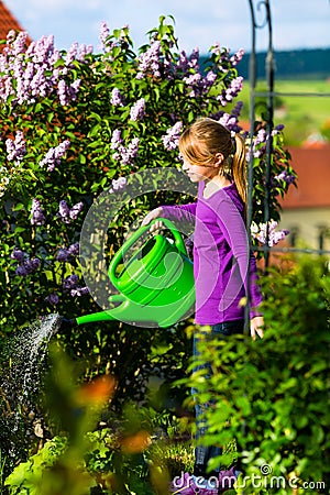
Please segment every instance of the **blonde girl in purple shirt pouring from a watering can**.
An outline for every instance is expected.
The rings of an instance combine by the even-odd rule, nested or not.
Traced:
[[[201,331],[208,326],[211,338],[219,339],[242,333],[244,307],[240,302],[246,296],[249,284],[251,336],[253,339],[263,337],[263,318],[257,311],[262,296],[256,285],[255,258],[249,248],[244,222],[244,140],[239,134],[232,139],[230,131],[216,120],[200,119],[180,136],[179,151],[184,172],[191,182],[198,183],[197,202],[158,207],[144,218],[143,224],[160,217],[169,218],[177,226],[194,221],[195,321],[201,326]],[[194,337],[194,355],[198,353],[197,344],[198,333]],[[210,374],[208,363],[205,367]],[[196,405],[197,439],[205,430],[199,418],[206,407],[208,405]],[[186,474],[182,481],[176,480],[173,493],[221,493],[223,472],[217,473],[218,486],[207,483],[207,476],[215,475],[207,474],[208,461],[219,454],[219,448],[197,444],[194,475]],[[234,470],[226,473],[232,475]]]

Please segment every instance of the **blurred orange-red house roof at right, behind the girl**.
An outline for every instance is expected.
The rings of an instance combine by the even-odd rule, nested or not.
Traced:
[[[289,152],[298,187],[289,187],[280,201],[283,209],[330,207],[330,144],[292,147]]]

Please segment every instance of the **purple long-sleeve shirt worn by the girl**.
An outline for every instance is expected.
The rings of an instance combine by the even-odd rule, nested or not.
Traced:
[[[183,222],[195,222],[195,320],[199,324],[217,324],[244,319],[242,298],[248,283],[252,318],[260,315],[256,307],[262,296],[255,258],[249,248],[243,202],[234,183],[208,198],[204,197],[204,188],[205,183],[200,182],[197,202],[162,207],[163,217],[174,220],[178,229]]]

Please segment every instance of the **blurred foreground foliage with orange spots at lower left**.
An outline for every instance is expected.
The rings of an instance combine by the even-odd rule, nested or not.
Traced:
[[[153,436],[155,409],[128,403],[120,417],[108,418],[107,427],[113,378],[106,375],[79,385],[77,364],[58,345],[52,345],[51,356],[45,400],[48,424],[57,435],[14,468],[4,483],[10,495],[152,495],[165,492],[168,472],[191,466],[191,447],[188,451]]]

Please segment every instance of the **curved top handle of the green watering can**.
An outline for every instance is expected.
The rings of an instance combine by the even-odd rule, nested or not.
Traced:
[[[178,251],[180,251],[185,256],[187,256],[187,249],[185,245],[185,242],[182,238],[180,232],[177,230],[177,228],[175,227],[175,224],[168,220],[167,218],[156,218],[154,220],[152,220],[147,226],[141,226],[129,239],[128,241],[117,251],[117,253],[114,254],[113,258],[111,260],[110,266],[109,266],[109,276],[112,279],[116,279],[116,268],[118,266],[118,264],[121,262],[124,252],[131,248],[134,242],[138,241],[138,239],[144,233],[146,232],[151,226],[155,222],[162,222],[164,223],[165,227],[168,228],[168,230],[172,231],[173,237],[174,237],[174,243],[176,245],[176,248],[178,249]]]

